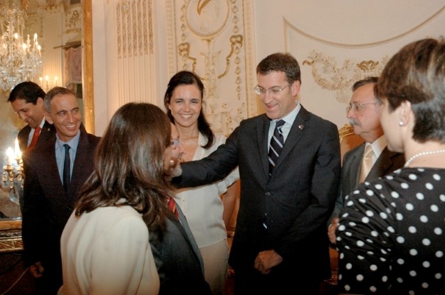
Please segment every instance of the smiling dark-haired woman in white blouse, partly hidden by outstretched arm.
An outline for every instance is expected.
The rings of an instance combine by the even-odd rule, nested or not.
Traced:
[[[224,135],[213,133],[205,119],[203,96],[204,85],[191,71],[179,71],[172,76],[165,92],[167,115],[175,124],[184,147],[183,161],[200,160],[226,140]],[[236,185],[232,184],[238,178],[236,169],[219,183],[180,189],[175,194],[200,248],[204,276],[212,294],[224,294],[229,258],[225,226],[234,210]]]

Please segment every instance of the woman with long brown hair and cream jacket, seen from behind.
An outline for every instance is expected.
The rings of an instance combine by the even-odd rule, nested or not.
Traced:
[[[149,235],[170,214],[168,176],[179,155],[170,134],[157,106],[127,103],[113,115],[63,230],[58,294],[158,294]]]

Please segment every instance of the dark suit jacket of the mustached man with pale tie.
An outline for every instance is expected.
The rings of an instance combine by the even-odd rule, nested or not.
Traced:
[[[360,144],[354,149],[348,151],[343,156],[343,167],[341,167],[341,187],[339,197],[335,203],[335,209],[332,217],[339,217],[340,211],[343,208],[343,201],[347,194],[353,192],[353,189],[359,182],[360,169],[362,167],[362,158],[365,144]],[[405,164],[405,155],[403,153],[396,153],[389,151],[387,147],[383,149],[382,153],[374,163],[365,181],[373,180],[397,170]]]

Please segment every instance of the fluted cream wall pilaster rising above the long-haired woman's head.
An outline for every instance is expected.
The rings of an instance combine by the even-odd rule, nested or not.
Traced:
[[[131,101],[155,103],[152,0],[121,0],[112,5],[117,65],[111,67],[118,83],[118,95],[113,94],[118,105],[113,109]]]

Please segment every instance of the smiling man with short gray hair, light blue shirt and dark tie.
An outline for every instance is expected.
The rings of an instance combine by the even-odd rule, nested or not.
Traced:
[[[24,158],[22,230],[25,261],[36,278],[39,294],[56,294],[62,285],[60,236],[83,183],[94,169],[99,137],[80,128],[81,112],[70,90],[50,90],[44,109],[56,136]]]

